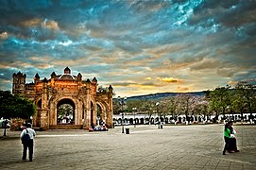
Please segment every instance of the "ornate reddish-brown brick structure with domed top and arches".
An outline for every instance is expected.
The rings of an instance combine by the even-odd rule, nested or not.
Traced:
[[[26,74],[13,74],[12,93],[20,93],[37,106],[33,116],[33,127],[49,128],[85,128],[97,121],[112,127],[112,87],[97,91],[97,79],[82,80],[79,73],[71,75],[66,67],[62,75],[51,74],[50,78],[40,79],[38,74],[34,82],[26,84]],[[65,104],[71,109],[66,119],[60,114]],[[63,110],[62,110],[63,113]],[[60,117],[62,119],[60,120]]]

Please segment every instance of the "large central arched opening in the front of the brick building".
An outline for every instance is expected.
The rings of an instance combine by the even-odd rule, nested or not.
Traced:
[[[71,99],[62,99],[57,105],[57,123],[74,125],[75,103]]]

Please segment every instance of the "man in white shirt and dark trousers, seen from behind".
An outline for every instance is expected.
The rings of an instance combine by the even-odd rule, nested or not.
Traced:
[[[36,132],[33,128],[31,128],[31,124],[26,124],[26,129],[24,129],[21,133],[21,139],[28,134],[29,140],[27,142],[23,142],[23,161],[26,161],[26,150],[28,148],[29,152],[29,161],[33,161],[33,147],[34,147],[34,137],[36,136]]]

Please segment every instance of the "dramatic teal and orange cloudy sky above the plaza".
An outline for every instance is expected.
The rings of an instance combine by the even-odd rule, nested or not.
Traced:
[[[256,0],[1,0],[0,89],[68,66],[116,95],[256,77]]]

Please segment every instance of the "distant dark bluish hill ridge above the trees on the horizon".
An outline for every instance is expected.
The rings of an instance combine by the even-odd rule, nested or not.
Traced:
[[[157,99],[161,99],[163,97],[176,96],[178,94],[179,93],[150,93],[150,94],[145,94],[145,95],[130,96],[130,97],[128,97],[128,100],[143,100],[143,99],[157,100]],[[197,95],[197,96],[204,96],[205,95],[204,92],[194,92],[194,93],[189,93],[189,94]]]

